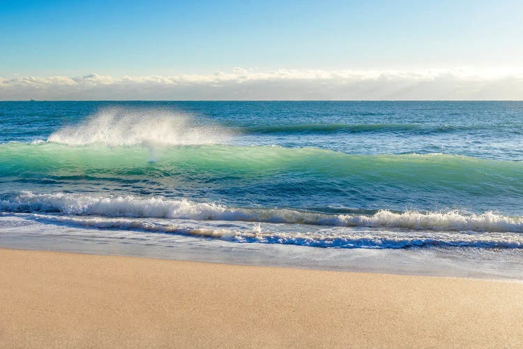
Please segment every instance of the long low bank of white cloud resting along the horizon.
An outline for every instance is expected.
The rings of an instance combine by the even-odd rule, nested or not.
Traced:
[[[0,77],[0,100],[522,100],[522,69],[289,70]]]

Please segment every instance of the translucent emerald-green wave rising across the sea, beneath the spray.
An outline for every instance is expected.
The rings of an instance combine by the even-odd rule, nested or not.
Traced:
[[[0,144],[0,174],[5,176],[28,174],[63,175],[111,170],[126,176],[142,173],[148,178],[163,172],[197,170],[200,174],[226,172],[227,174],[264,175],[271,172],[306,172],[328,177],[357,176],[365,181],[408,180],[409,184],[427,182],[453,186],[467,184],[480,186],[482,191],[496,184],[499,191],[508,191],[523,185],[523,162],[492,161],[449,154],[380,154],[356,155],[317,148],[235,147],[224,144],[179,145],[156,149],[151,165],[151,149],[139,145],[105,147],[89,145],[69,147],[64,144]],[[501,189],[500,189],[501,188]]]

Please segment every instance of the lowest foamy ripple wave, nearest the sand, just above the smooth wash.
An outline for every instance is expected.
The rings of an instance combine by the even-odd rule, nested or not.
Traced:
[[[68,227],[95,228],[100,230],[130,230],[135,233],[160,233],[169,235],[185,235],[209,239],[221,239],[236,243],[258,244],[291,244],[323,248],[434,248],[434,247],[464,247],[464,248],[523,248],[523,235],[510,232],[446,232],[446,231],[398,231],[384,229],[362,230],[354,228],[317,228],[287,229],[287,225],[271,225],[269,223],[234,225],[234,228],[220,228],[220,223],[197,227],[191,221],[167,221],[137,218],[113,218],[100,216],[57,216],[50,214],[17,214],[24,218],[22,222],[37,221],[44,224],[66,225]],[[20,225],[24,230],[26,225]],[[7,222],[9,223],[9,222]],[[221,226],[223,226],[221,224]],[[56,229],[52,229],[54,232]],[[40,231],[40,230],[38,230]],[[89,232],[84,232],[89,235]],[[63,234],[63,232],[58,232]],[[78,235],[82,231],[68,231],[68,234]],[[121,234],[105,234],[110,239],[121,238]],[[150,239],[143,235],[133,235],[133,239]],[[158,241],[165,239],[160,238]]]

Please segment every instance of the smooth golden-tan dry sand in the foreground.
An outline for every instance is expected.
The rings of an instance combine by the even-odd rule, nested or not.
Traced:
[[[0,249],[0,347],[523,346],[523,284]]]

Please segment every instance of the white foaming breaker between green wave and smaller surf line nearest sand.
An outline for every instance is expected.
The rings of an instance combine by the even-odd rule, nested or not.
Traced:
[[[215,203],[133,196],[97,197],[69,193],[35,194],[24,192],[0,202],[8,212],[54,212],[105,217],[178,218],[198,221],[245,221],[298,223],[307,225],[402,228],[455,232],[523,232],[523,217],[493,212],[462,214],[458,211],[395,213],[380,210],[372,215],[324,214],[296,209],[232,208]]]

